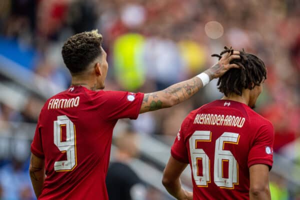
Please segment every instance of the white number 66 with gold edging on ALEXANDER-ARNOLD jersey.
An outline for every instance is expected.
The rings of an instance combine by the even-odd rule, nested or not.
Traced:
[[[225,143],[238,144],[239,134],[223,132],[215,141],[213,181],[221,187],[233,189],[238,184],[238,164],[229,150],[224,150]],[[189,152],[193,179],[198,187],[207,187],[210,183],[210,160],[202,148],[197,148],[197,142],[211,142],[211,132],[196,130],[189,138]],[[202,161],[202,175],[198,171],[198,160]],[[223,177],[223,162],[228,162],[228,178]]]

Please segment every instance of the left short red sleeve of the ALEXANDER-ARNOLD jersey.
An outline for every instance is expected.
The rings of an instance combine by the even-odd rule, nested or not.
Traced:
[[[184,119],[177,133],[175,141],[171,147],[171,155],[173,156],[173,158],[184,163],[189,162],[188,152],[185,146],[185,139],[184,139],[184,135],[185,135],[184,133],[186,131],[186,127],[187,127],[187,120]]]

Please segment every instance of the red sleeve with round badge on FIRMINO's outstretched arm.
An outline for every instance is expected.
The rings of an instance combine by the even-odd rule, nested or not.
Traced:
[[[128,91],[104,91],[105,93],[105,112],[109,119],[130,118],[136,119],[143,93],[132,93]]]

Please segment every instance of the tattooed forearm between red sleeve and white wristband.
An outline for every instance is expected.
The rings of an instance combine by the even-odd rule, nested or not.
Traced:
[[[139,113],[153,111],[178,104],[202,87],[202,81],[198,77],[173,84],[161,91],[144,94]]]

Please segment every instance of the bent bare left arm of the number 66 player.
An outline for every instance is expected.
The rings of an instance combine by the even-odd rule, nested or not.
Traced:
[[[162,184],[166,190],[179,200],[191,200],[192,192],[186,191],[181,187],[180,174],[186,167],[186,163],[180,162],[170,156],[162,176]]]

